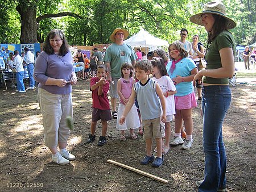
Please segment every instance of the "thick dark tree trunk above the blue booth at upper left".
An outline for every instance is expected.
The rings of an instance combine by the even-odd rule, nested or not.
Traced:
[[[36,38],[36,7],[22,7],[18,5],[16,10],[20,14],[21,34],[20,43],[38,43]]]

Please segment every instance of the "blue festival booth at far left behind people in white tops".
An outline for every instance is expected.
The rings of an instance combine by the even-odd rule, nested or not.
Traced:
[[[27,47],[30,51],[36,55],[37,51],[40,52],[40,44],[0,44],[0,62],[1,62],[1,81],[5,82],[5,88],[7,90],[6,81],[10,80],[11,84],[14,85],[16,83],[16,74],[11,70],[11,66],[8,65],[8,60],[10,53],[13,53],[15,50],[18,50],[19,53],[24,51],[24,48]],[[28,78],[27,70],[24,70],[23,79]]]

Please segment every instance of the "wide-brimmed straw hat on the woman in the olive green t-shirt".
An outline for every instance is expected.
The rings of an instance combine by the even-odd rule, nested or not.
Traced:
[[[227,30],[230,30],[236,27],[237,25],[232,19],[226,16],[226,7],[221,2],[212,1],[212,2],[206,3],[204,5],[203,11],[200,12],[199,14],[191,16],[189,20],[192,23],[196,23],[196,24],[199,24],[200,26],[204,26],[204,24],[202,23],[203,14],[214,14],[214,15],[220,15],[224,17],[227,20],[227,23],[226,23]]]

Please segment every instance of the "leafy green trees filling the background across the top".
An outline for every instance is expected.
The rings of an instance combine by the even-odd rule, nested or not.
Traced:
[[[205,0],[0,0],[0,43],[43,43],[53,28],[60,28],[71,45],[111,43],[117,27],[130,35],[141,28],[161,39],[175,41],[181,28],[188,40],[197,34],[205,43],[204,27],[189,22]],[[237,23],[231,30],[237,45],[256,41],[256,0],[222,0],[227,15]]]

